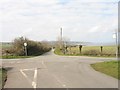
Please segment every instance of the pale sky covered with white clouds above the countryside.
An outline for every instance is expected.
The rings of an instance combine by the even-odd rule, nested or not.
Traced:
[[[0,40],[115,42],[119,0],[0,0]]]

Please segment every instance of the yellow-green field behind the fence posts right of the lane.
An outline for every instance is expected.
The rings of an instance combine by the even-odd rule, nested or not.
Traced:
[[[56,54],[64,55],[61,50],[56,49]],[[116,55],[116,47],[115,46],[103,46],[101,51],[101,46],[83,46],[81,52],[79,47],[68,47],[65,55],[71,56],[79,56],[79,55],[86,55],[86,56],[104,56],[104,57],[115,57]]]

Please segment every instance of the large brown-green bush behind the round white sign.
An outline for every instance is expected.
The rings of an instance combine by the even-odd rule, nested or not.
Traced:
[[[20,37],[14,40],[13,48],[12,50],[9,49],[8,52],[16,56],[24,56],[25,55],[25,47],[24,47],[25,42],[27,43],[27,55],[28,56],[41,55],[50,50],[50,47],[48,47],[48,45],[46,44],[42,44],[41,42],[35,42],[27,38],[24,39],[23,37]]]

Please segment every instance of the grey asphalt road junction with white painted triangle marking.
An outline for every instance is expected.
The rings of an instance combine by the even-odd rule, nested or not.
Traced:
[[[118,88],[118,80],[90,64],[108,58],[58,56],[53,51],[28,59],[3,60],[8,70],[5,88]]]

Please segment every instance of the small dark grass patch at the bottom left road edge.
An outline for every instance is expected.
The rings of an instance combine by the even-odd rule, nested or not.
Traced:
[[[3,88],[7,79],[7,70],[0,68],[0,88]]]

